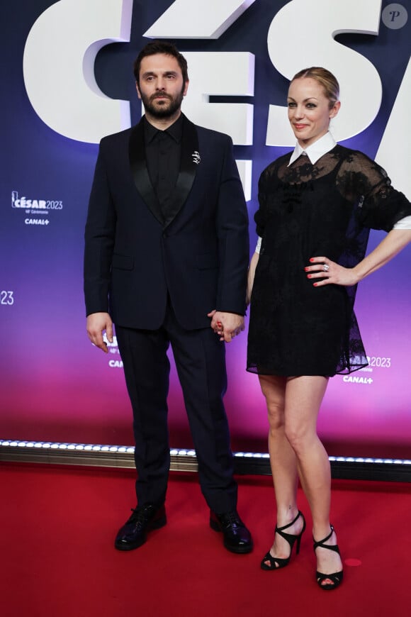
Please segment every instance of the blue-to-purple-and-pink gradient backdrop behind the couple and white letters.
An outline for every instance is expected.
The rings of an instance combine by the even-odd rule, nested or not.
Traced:
[[[51,130],[35,113],[24,87],[28,33],[52,4],[57,3],[22,0],[17,7],[8,2],[2,23],[7,62],[1,66],[0,438],[128,444],[133,440],[131,412],[118,350],[114,345],[108,356],[98,352],[84,327],[83,230],[97,146]],[[133,123],[140,117],[140,105],[130,66],[147,40],[142,34],[171,4],[135,0],[130,43],[108,45],[96,60],[97,83],[106,93],[113,92],[110,96],[130,100]],[[269,104],[283,104],[286,96],[287,80],[271,65],[266,45],[269,25],[286,4],[259,0],[218,39],[176,41],[187,52],[245,50],[255,55],[253,142],[235,147],[237,158],[253,160],[251,250],[259,173],[285,150],[266,146],[265,131]],[[383,8],[388,4],[383,2]],[[396,29],[381,22],[378,36],[346,34],[338,40],[367,57],[383,83],[375,121],[344,142],[375,157],[407,68],[409,21]],[[28,222],[39,216],[21,206],[23,197],[32,200],[32,206],[45,201],[47,216],[40,218],[47,223]],[[373,232],[370,248],[381,237]],[[359,287],[356,313],[370,367],[331,380],[320,432],[332,455],[410,457],[410,266],[411,251],[406,250]],[[244,370],[245,344],[242,335],[227,346],[232,445],[235,450],[266,451],[264,400],[257,377]],[[191,445],[174,369],[169,408],[171,445]]]

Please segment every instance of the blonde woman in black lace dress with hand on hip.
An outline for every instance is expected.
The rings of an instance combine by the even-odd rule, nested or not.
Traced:
[[[259,375],[266,399],[276,496],[274,543],[261,568],[288,565],[293,545],[300,548],[300,479],[313,517],[317,584],[325,590],[339,586],[343,571],[317,414],[329,378],[367,364],[354,315],[357,283],[411,241],[410,202],[376,162],[334,142],[329,125],[339,108],[329,71],[311,67],[291,80],[288,119],[297,144],[261,174],[248,287],[247,370]],[[388,234],[365,257],[370,228]]]

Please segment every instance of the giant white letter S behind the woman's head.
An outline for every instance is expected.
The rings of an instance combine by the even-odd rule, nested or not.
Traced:
[[[342,107],[332,121],[332,134],[344,140],[361,133],[381,105],[381,79],[359,53],[337,43],[341,33],[378,35],[381,0],[291,0],[269,28],[268,47],[276,69],[291,79],[305,67],[320,66],[337,77]],[[273,77],[275,79],[275,77]],[[270,105],[267,145],[293,145],[286,106]]]

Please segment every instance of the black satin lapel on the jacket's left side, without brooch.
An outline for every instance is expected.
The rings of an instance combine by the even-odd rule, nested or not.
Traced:
[[[157,195],[150,182],[145,162],[144,128],[140,121],[131,131],[128,143],[128,157],[130,160],[131,172],[133,173],[134,184],[140,193],[143,201],[147,204],[157,221],[163,225],[164,216],[160,208]]]

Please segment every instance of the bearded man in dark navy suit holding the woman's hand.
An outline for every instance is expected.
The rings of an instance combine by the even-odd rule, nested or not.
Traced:
[[[87,332],[107,351],[113,323],[133,406],[137,507],[116,548],[166,523],[171,343],[210,526],[232,552],[252,550],[237,513],[223,395],[225,345],[244,330],[248,221],[232,140],[181,113],[187,63],[148,43],[135,61],[145,116],[101,140],[86,223]]]

